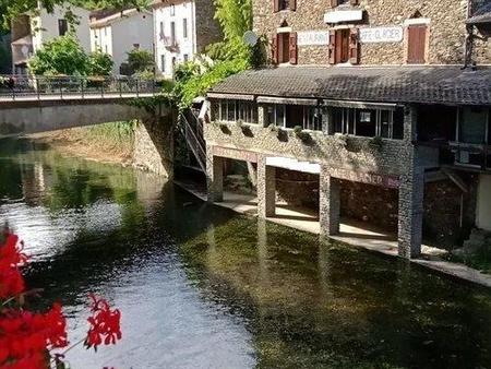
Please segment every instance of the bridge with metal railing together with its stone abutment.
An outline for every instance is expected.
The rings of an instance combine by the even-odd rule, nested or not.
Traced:
[[[144,107],[157,95],[154,81],[131,78],[0,76],[0,138],[137,119],[134,164],[172,177],[177,116],[163,104]]]

